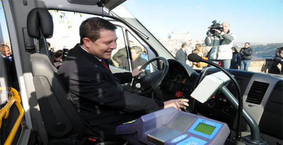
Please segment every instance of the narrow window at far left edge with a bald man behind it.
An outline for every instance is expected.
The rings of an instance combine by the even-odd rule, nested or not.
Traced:
[[[1,1],[0,1],[0,4]],[[0,9],[0,102],[8,98],[10,87],[19,91],[13,52],[3,9]]]

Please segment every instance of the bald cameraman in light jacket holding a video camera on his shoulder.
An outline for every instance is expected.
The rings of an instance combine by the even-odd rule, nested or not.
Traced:
[[[230,68],[232,59],[232,46],[233,41],[236,39],[236,35],[230,32],[230,24],[228,22],[222,23],[222,30],[209,29],[205,44],[212,46],[210,53],[210,61],[218,64],[221,60],[224,68]],[[211,30],[215,30],[215,34],[211,34]]]

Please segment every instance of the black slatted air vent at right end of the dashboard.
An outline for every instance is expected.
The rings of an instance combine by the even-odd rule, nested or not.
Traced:
[[[254,81],[246,99],[246,102],[253,104],[261,104],[264,94],[268,88],[269,84]]]

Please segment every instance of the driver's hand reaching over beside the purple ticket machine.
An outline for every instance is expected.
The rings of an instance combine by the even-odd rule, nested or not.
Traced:
[[[189,106],[188,99],[174,99],[174,100],[168,100],[163,102],[164,108],[168,107],[175,107],[177,110],[181,111],[181,108],[186,109],[186,106]]]

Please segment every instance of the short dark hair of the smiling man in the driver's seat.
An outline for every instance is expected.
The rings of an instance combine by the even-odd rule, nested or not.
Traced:
[[[101,30],[115,31],[116,28],[114,24],[105,19],[98,17],[88,18],[82,21],[79,26],[80,44],[83,44],[83,38],[88,38],[92,42],[95,42],[100,38]]]

